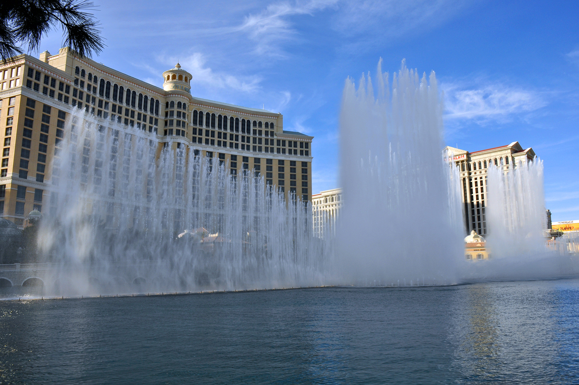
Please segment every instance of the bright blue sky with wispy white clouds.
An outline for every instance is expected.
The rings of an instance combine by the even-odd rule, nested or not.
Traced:
[[[107,45],[94,60],[157,86],[179,61],[193,96],[281,112],[285,130],[314,136],[314,194],[340,186],[346,78],[405,59],[436,73],[445,144],[532,147],[552,220],[579,220],[577,1],[94,3]],[[40,51],[62,44],[54,31]]]

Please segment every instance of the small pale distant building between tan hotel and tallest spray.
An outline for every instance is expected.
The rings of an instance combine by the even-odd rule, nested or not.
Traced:
[[[314,236],[335,235],[336,220],[342,209],[342,189],[321,191],[312,195]]]

